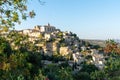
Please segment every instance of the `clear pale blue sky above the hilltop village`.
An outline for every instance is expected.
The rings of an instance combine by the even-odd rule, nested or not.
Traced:
[[[33,19],[15,28],[32,29],[50,23],[61,31],[76,33],[80,39],[120,39],[120,0],[31,0]]]

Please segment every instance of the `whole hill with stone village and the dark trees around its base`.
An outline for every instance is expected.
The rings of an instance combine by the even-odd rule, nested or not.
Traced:
[[[112,40],[105,44],[80,39],[77,34],[61,31],[49,23],[0,35],[3,80],[4,75],[11,78],[11,74],[18,74],[13,76],[15,80],[19,76],[25,78],[22,80],[109,80],[119,70],[120,48]]]

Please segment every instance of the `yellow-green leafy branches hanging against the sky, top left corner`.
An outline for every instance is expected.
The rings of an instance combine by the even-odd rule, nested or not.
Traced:
[[[0,30],[8,31],[15,23],[33,18],[34,11],[27,12],[27,0],[0,0]]]

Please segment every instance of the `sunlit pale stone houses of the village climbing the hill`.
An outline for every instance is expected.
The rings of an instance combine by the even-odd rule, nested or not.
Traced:
[[[95,64],[99,69],[104,67],[104,56],[101,47],[80,40],[75,33],[63,32],[49,23],[44,26],[37,25],[34,29],[25,29],[17,32],[27,35],[28,40],[38,47],[37,52],[44,56],[60,55],[68,60],[70,66],[73,66],[74,63],[80,64],[83,61],[87,61]],[[58,64],[63,62],[58,61]],[[47,65],[51,64],[52,61],[43,60],[43,63]],[[77,65],[76,70],[80,69],[81,66]]]

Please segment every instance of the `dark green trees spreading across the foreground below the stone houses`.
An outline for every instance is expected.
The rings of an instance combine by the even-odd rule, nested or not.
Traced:
[[[10,37],[12,38],[10,39]],[[33,43],[30,44],[27,36],[21,35],[15,31],[9,33],[7,39],[0,37],[1,80],[120,79],[119,54],[115,54],[113,52],[111,52],[111,54],[105,53],[106,63],[102,70],[99,70],[94,64],[83,62],[83,64],[81,64],[82,69],[75,72],[74,69],[76,68],[76,65],[73,67],[69,66],[68,61],[62,56],[45,56],[38,52],[38,49],[39,48]],[[91,57],[87,58],[86,56],[86,59],[90,60]],[[42,60],[49,60],[53,63],[45,65]],[[64,61],[64,63],[57,64],[58,61]]]

